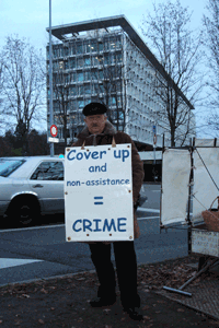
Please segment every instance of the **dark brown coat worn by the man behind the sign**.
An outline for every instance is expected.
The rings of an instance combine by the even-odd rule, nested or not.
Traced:
[[[84,145],[101,145],[101,144],[112,144],[113,137],[116,143],[131,143],[131,165],[132,165],[132,195],[134,195],[134,203],[137,202],[138,196],[140,192],[140,188],[143,181],[143,164],[140,160],[138,151],[136,149],[135,143],[131,138],[122,132],[115,130],[113,125],[110,121],[106,121],[105,128],[100,134],[91,134],[89,132],[88,127],[85,127],[79,134],[78,141],[73,143],[73,147],[82,147]],[[140,235],[139,226],[137,222],[136,214],[134,215],[134,233],[135,238],[138,238]]]

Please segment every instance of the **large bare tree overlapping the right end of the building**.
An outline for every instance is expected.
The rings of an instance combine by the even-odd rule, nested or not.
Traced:
[[[200,40],[189,30],[192,14],[181,5],[180,0],[155,3],[153,12],[143,17],[142,33],[152,51],[164,68],[164,73],[151,71],[153,96],[161,106],[154,120],[169,131],[171,145],[186,142],[195,134],[193,105],[203,87],[197,71],[200,63]]]

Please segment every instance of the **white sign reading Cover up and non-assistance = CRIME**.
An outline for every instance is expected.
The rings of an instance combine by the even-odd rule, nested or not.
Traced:
[[[68,242],[134,241],[131,144],[66,149]]]

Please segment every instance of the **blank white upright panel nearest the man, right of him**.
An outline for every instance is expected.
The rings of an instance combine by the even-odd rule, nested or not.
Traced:
[[[191,154],[188,150],[168,149],[162,162],[161,223],[185,223],[188,202]]]

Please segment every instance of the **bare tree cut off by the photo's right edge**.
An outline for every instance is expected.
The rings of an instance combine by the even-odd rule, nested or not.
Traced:
[[[209,55],[207,56],[208,86],[210,90],[208,108],[208,125],[217,132],[219,131],[219,0],[208,0],[207,14],[204,15],[205,40]]]

